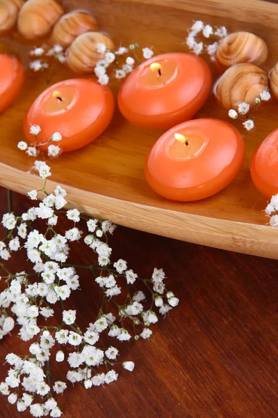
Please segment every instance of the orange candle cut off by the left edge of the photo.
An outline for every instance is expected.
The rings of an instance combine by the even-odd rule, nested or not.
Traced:
[[[7,109],[19,95],[24,83],[22,63],[6,54],[0,54],[0,112]]]

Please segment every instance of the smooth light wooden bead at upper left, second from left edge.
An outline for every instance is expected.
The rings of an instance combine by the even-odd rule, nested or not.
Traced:
[[[17,29],[26,39],[42,38],[63,13],[54,0],[28,0],[19,12]]]

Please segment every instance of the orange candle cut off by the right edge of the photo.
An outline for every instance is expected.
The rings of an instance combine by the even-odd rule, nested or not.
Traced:
[[[250,172],[261,194],[270,198],[278,193],[278,129],[271,132],[256,149]]]

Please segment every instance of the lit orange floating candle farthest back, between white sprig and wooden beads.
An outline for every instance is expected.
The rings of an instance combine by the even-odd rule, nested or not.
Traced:
[[[169,128],[188,121],[211,91],[211,71],[199,56],[171,53],[140,64],[118,94],[123,116],[135,125]]]

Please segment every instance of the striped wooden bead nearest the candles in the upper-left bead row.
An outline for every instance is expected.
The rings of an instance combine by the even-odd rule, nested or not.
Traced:
[[[78,36],[67,52],[67,64],[69,67],[81,74],[93,72],[99,59],[104,58],[103,54],[97,52],[97,44],[103,43],[107,49],[113,51],[113,41],[100,32],[86,32]]]

